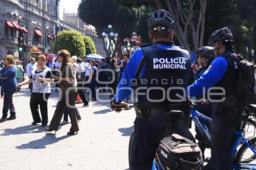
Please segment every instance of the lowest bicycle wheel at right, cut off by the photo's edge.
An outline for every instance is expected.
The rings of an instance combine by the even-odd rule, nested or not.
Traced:
[[[248,140],[248,143],[256,149],[256,138],[252,138]],[[256,155],[253,153],[253,151],[246,145],[242,144],[242,146],[239,148],[236,158],[235,158],[235,165],[241,165],[241,164],[256,164]],[[254,167],[256,168],[256,167]]]

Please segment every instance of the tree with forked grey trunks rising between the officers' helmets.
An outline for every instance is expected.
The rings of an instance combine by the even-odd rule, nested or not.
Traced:
[[[116,0],[117,1],[117,0]],[[191,53],[203,44],[204,17],[207,0],[120,0],[124,6],[150,6],[169,11],[175,21],[175,36],[179,44]]]

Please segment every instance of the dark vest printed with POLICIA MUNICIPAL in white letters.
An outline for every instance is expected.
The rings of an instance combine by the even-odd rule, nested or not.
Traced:
[[[183,103],[191,67],[189,55],[184,50],[172,48],[165,50],[158,46],[142,47],[144,57],[137,70],[138,102],[150,108],[166,107],[170,103]],[[144,64],[145,75],[139,79]]]

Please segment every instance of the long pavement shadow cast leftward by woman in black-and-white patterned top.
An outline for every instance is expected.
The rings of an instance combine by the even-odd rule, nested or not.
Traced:
[[[41,133],[41,132],[45,132],[46,131],[45,129],[46,129],[46,126],[42,127],[41,124],[37,126],[34,126],[34,125],[20,126],[14,129],[2,129],[4,133],[2,133],[0,136],[19,135],[19,134],[27,134],[27,133]]]

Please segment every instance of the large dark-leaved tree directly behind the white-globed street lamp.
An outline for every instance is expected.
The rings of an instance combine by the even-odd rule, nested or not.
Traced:
[[[78,7],[79,17],[86,23],[93,25],[98,36],[102,39],[104,50],[108,53],[102,32],[111,24],[118,33],[114,42],[112,57],[119,50],[124,38],[131,37],[136,28],[136,10],[119,5],[113,0],[83,0]]]

